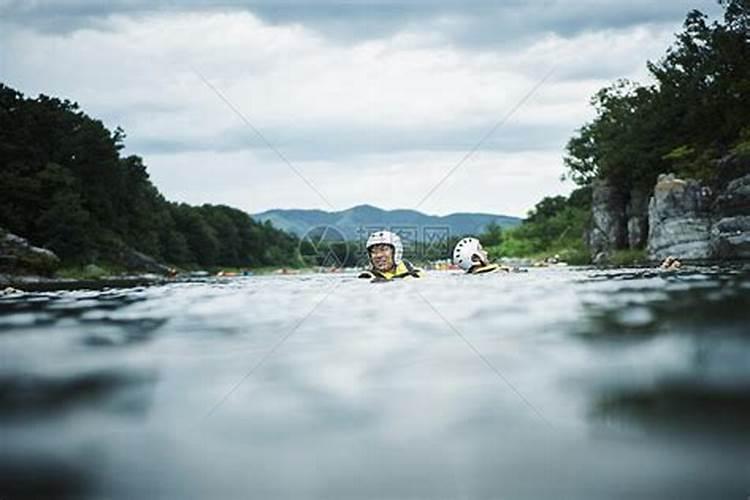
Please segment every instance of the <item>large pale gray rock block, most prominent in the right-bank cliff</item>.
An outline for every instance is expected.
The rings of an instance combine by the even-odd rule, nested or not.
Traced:
[[[710,195],[710,190],[696,181],[672,174],[659,176],[648,207],[651,259],[712,257]]]

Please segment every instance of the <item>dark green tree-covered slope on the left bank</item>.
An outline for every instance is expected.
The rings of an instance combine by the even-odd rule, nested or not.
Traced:
[[[299,263],[295,237],[240,210],[166,201],[141,158],[120,156],[124,138],[75,103],[0,84],[0,226],[68,265],[123,246],[184,267]]]

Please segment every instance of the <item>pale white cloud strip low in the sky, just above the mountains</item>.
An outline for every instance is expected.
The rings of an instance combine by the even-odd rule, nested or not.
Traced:
[[[465,151],[365,155],[342,167],[332,162],[300,162],[295,168],[313,183],[321,199],[286,164],[250,151],[156,155],[151,175],[169,198],[199,204],[206,193],[257,213],[274,208],[342,210],[361,203],[386,209],[415,208],[456,165]],[[192,168],[200,166],[201,168]],[[426,213],[489,212],[523,216],[544,196],[566,194],[555,152],[484,152],[447,177],[419,207]]]

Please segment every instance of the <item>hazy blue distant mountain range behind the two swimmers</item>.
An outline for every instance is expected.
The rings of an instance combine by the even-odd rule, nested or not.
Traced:
[[[479,234],[494,221],[503,229],[517,226],[521,219],[509,215],[483,213],[456,213],[445,216],[427,215],[416,210],[382,210],[372,205],[358,205],[340,212],[323,210],[268,210],[255,214],[253,219],[269,221],[278,229],[297,236],[304,236],[321,226],[340,231],[347,240],[358,240],[377,229],[401,231],[446,230],[450,236]],[[329,239],[336,239],[337,232],[329,231]]]

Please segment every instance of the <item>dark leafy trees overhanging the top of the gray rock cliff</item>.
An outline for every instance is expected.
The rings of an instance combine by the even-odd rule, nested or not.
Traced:
[[[618,81],[599,91],[596,118],[570,139],[565,163],[581,185],[603,178],[650,188],[667,171],[712,182],[716,160],[743,153],[750,116],[750,1],[722,0],[723,22],[690,12],[656,83]]]

